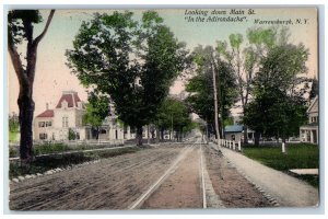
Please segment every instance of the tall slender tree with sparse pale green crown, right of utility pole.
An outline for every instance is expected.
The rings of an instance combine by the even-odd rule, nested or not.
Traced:
[[[249,102],[253,90],[253,80],[258,71],[259,62],[268,50],[278,44],[284,44],[288,32],[282,28],[249,28],[247,30],[247,42],[242,34],[231,34],[226,42],[218,42],[216,50],[222,58],[230,64],[236,77],[236,87],[243,112]],[[243,49],[243,43],[246,43]],[[229,47],[230,45],[230,47]],[[247,126],[244,125],[244,142],[247,142]]]

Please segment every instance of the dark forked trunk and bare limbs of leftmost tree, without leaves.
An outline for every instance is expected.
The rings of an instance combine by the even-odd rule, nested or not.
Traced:
[[[8,51],[10,54],[12,65],[20,83],[20,95],[17,100],[20,108],[20,158],[22,161],[31,161],[33,159],[33,115],[34,115],[34,101],[33,101],[33,83],[35,78],[35,66],[37,57],[37,46],[43,39],[49,24],[52,20],[55,10],[51,10],[44,27],[44,31],[33,39],[33,25],[28,19],[23,20],[24,35],[27,39],[26,49],[26,67],[22,64],[21,55],[17,53],[16,45],[14,43],[14,36],[8,35]]]

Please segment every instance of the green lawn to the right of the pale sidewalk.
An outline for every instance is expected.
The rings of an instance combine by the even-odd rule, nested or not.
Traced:
[[[274,146],[247,146],[243,153],[272,169],[288,172],[290,169],[318,169],[319,148],[308,143],[286,145],[286,153],[281,152],[281,147]],[[312,175],[298,176],[314,186],[318,186],[318,177]]]

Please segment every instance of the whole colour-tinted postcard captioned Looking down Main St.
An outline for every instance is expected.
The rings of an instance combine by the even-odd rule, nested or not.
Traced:
[[[8,11],[9,209],[318,207],[318,10]]]

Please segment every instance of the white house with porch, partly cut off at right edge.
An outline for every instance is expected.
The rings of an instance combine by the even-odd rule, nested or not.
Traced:
[[[319,139],[319,107],[318,96],[316,96],[307,108],[306,113],[308,122],[306,125],[300,127],[301,142],[318,143]]]

